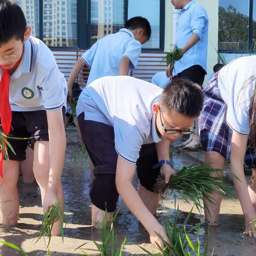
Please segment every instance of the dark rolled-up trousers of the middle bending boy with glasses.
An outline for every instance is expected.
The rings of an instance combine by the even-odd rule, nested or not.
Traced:
[[[77,119],[85,147],[94,165],[91,201],[99,209],[113,212],[119,196],[115,183],[118,154],[115,150],[114,129],[104,123],[84,120],[84,114]],[[156,163],[158,158],[155,144],[142,145],[137,161],[137,174],[141,185],[150,191],[154,191],[160,172],[160,168],[153,170]]]

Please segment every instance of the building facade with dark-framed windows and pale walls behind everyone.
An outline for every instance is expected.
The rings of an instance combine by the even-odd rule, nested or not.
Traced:
[[[152,27],[145,50],[168,51],[175,41],[171,0],[16,0],[32,34],[49,47],[89,49],[98,39],[116,33],[127,19],[146,17]],[[256,51],[256,0],[196,0],[209,15],[208,71],[217,51],[234,59]]]

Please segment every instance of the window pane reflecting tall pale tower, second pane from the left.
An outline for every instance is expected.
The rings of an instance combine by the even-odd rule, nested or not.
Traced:
[[[77,46],[77,1],[44,0],[43,10],[45,44],[50,47]],[[61,19],[57,19],[58,14]]]

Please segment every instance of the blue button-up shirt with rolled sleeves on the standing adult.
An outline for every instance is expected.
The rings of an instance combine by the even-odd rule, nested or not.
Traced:
[[[180,61],[175,62],[176,74],[194,65],[200,65],[205,71],[207,70],[208,26],[206,10],[194,0],[180,11],[177,23],[178,47],[182,49],[193,33],[198,35],[199,41],[183,55]]]

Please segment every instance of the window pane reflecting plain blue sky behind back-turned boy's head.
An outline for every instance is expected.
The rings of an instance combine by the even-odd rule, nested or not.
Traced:
[[[160,48],[160,1],[156,0],[129,0],[128,19],[142,16],[148,19],[151,25],[151,38],[142,47]]]

